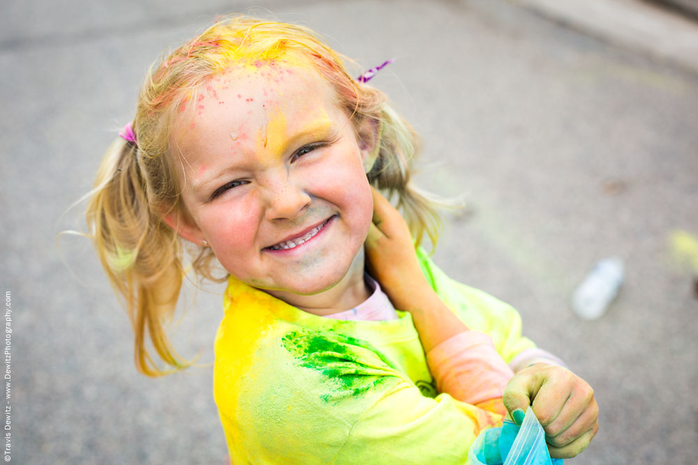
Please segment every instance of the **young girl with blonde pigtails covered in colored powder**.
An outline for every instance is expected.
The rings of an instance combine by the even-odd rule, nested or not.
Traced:
[[[151,71],[87,211],[136,366],[163,374],[147,337],[187,365],[163,320],[188,248],[196,273],[230,273],[214,397],[233,462],[461,464],[532,402],[551,455],[576,455],[593,391],[415,250],[436,215],[410,184],[414,136],[366,80],[311,31],[244,17]]]

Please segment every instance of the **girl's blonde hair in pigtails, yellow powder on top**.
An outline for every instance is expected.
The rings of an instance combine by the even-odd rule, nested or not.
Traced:
[[[186,272],[183,241],[162,218],[165,213],[190,218],[179,197],[179,171],[170,147],[177,112],[211,75],[241,61],[285,57],[312,63],[332,84],[338,104],[350,112],[355,127],[366,119],[378,126],[369,181],[389,196],[398,195],[398,207],[416,244],[426,232],[436,245],[440,220],[432,208],[435,201],[410,183],[415,133],[389,107],[384,94],[352,79],[343,64],[346,58],[303,26],[227,17],[151,68],[133,119],[138,143],[120,137],[112,143],[87,206],[89,235],[133,324],[135,365],[143,374],[159,376],[191,365],[174,351],[163,327],[174,314]],[[200,277],[221,281],[225,278],[212,275],[214,258],[209,248],[198,247],[191,268]],[[158,369],[147,350],[147,337],[171,369]]]

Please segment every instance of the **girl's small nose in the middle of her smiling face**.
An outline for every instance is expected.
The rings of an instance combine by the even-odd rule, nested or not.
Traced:
[[[311,203],[310,195],[290,179],[285,170],[267,176],[264,184],[265,215],[268,221],[293,220]]]

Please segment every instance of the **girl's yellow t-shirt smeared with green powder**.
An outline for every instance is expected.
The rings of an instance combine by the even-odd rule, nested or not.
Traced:
[[[454,282],[423,250],[433,289],[508,363],[535,344],[509,305]],[[214,397],[234,464],[463,464],[501,416],[436,392],[410,314],[318,317],[230,278]]]

